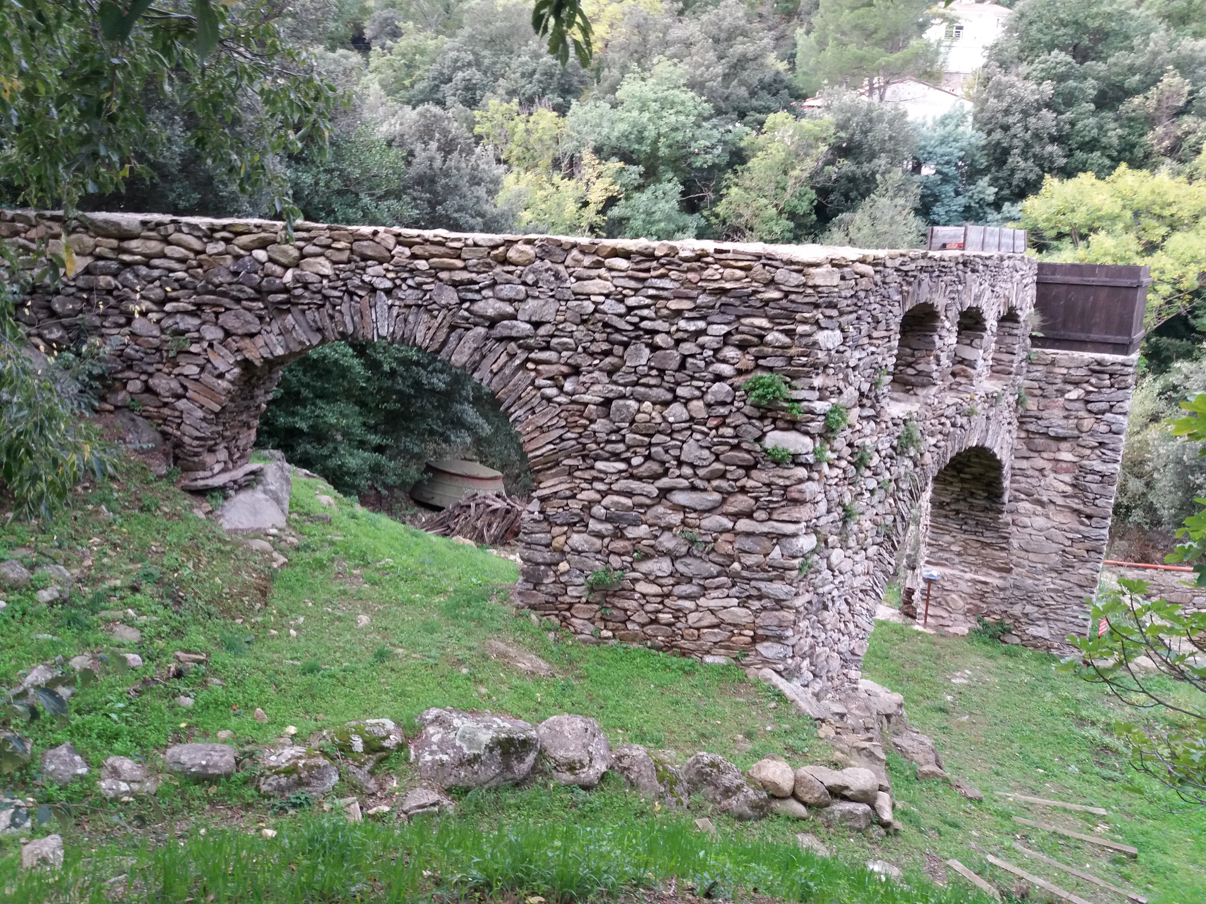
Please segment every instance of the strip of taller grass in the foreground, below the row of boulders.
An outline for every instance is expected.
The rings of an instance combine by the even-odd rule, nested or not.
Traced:
[[[715,898],[763,894],[818,904],[980,900],[918,875],[884,881],[794,845],[708,839],[669,816],[622,824],[521,822],[500,832],[484,832],[464,818],[434,826],[350,826],[340,816],[302,817],[274,839],[226,830],[178,846],[122,853],[111,849],[87,858],[72,850],[53,875],[17,873],[0,861],[0,887],[13,904],[103,900],[104,888],[131,903],[411,902],[427,896],[523,900],[535,894],[568,903],[610,899],[669,877]]]

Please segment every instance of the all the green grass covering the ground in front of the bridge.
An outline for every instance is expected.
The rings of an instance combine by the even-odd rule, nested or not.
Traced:
[[[514,563],[423,534],[364,511],[351,500],[336,497],[338,509],[326,509],[316,493],[334,495],[321,481],[294,481],[291,532],[300,542],[277,542],[289,558],[280,571],[271,570],[269,557],[194,517],[189,512],[192,499],[152,479],[136,464],[123,465],[119,482],[83,491],[74,510],[53,522],[0,528],[0,547],[21,552],[30,565],[60,560],[76,568],[92,559],[68,605],[40,606],[33,588],[7,595],[10,605],[0,611],[0,683],[14,685],[19,670],[57,654],[70,658],[84,651],[113,648],[117,645],[103,630],[99,614],[125,609],[145,618],[137,622],[144,639],[136,648],[147,665],[137,674],[153,674],[159,680],[139,687],[136,695],[129,693],[135,686],[133,675],[110,675],[80,691],[71,699],[68,724],[41,720],[30,727],[37,756],[48,746],[70,740],[93,767],[93,779],[110,755],[153,762],[154,751],[174,742],[213,739],[223,729],[236,733],[233,742],[242,750],[271,741],[289,724],[305,738],[315,729],[353,718],[390,717],[412,733],[414,716],[428,706],[488,709],[532,722],[560,712],[581,712],[597,718],[613,744],[636,741],[668,749],[681,759],[709,750],[743,768],[771,753],[792,764],[825,762],[830,755],[810,720],[795,716],[775,692],[749,682],[739,668],[576,642],[549,623],[533,623],[528,614],[509,604],[508,588],[517,574]],[[329,523],[323,521],[326,515],[330,515]],[[110,587],[115,580],[119,586]],[[357,627],[361,615],[369,622]],[[297,636],[289,636],[291,628]],[[39,640],[39,634],[54,639]],[[484,652],[488,638],[540,656],[552,665],[555,676],[532,677],[492,661]],[[187,677],[169,679],[174,650],[205,651],[211,661]],[[902,804],[897,816],[904,828],[888,838],[830,832],[813,821],[800,823],[778,816],[756,823],[714,817],[721,840],[712,844],[650,802],[626,792],[609,774],[590,793],[539,779],[523,788],[458,796],[457,815],[445,820],[438,835],[445,839],[449,853],[428,847],[428,838],[437,837],[403,829],[397,850],[411,845],[417,853],[394,861],[373,852],[392,850],[394,843],[387,833],[397,827],[343,828],[336,823],[334,828],[321,828],[326,823],[317,815],[274,812],[271,802],[254,791],[251,773],[209,786],[169,779],[154,799],[130,804],[95,796],[92,781],[66,788],[36,785],[34,767],[0,779],[0,789],[19,788],[42,804],[57,805],[46,815],[59,818],[36,834],[63,833],[71,857],[98,849],[88,864],[71,867],[71,875],[82,875],[80,870],[99,875],[110,868],[105,864],[113,857],[136,856],[151,870],[144,890],[156,882],[176,881],[183,867],[172,867],[171,858],[198,864],[193,873],[186,870],[193,876],[188,881],[200,882],[204,869],[217,870],[205,879],[205,887],[212,888],[215,882],[221,885],[221,870],[205,867],[207,858],[230,863],[232,858],[246,857],[260,858],[264,881],[275,876],[273,881],[280,888],[288,887],[304,870],[326,864],[323,875],[329,873],[332,882],[346,880],[340,886],[343,892],[332,892],[335,899],[347,899],[346,888],[356,885],[380,891],[380,899],[388,899],[388,894],[412,899],[416,888],[426,893],[440,882],[473,875],[474,869],[486,875],[482,864],[502,858],[500,846],[505,844],[517,851],[507,862],[520,864],[508,874],[510,879],[503,885],[464,880],[469,884],[457,888],[535,890],[550,900],[550,891],[567,899],[576,894],[566,891],[578,881],[573,879],[578,874],[568,867],[522,865],[525,845],[551,845],[567,858],[576,857],[581,876],[586,876],[581,881],[598,882],[599,888],[631,884],[644,873],[699,879],[707,867],[722,874],[721,885],[739,885],[748,893],[757,885],[763,893],[807,900],[946,900],[925,897],[938,892],[925,887],[920,870],[927,859],[932,867],[947,857],[1012,885],[972,850],[976,845],[982,852],[1018,863],[1083,897],[1099,898],[1072,876],[1053,875],[1012,851],[1008,843],[1021,834],[1029,846],[1081,867],[1090,864],[1090,871],[1140,891],[1153,904],[1206,900],[1206,877],[1199,865],[1206,862],[1201,817],[1170,815],[1161,809],[1172,808],[1175,802],[1154,782],[1129,771],[1108,733],[1118,710],[1111,708],[1100,688],[1055,674],[1054,664],[1050,657],[1017,647],[933,638],[904,626],[877,624],[863,674],[903,693],[911,721],[933,736],[952,775],[968,779],[985,792],[983,803],[966,802],[944,783],[917,781],[913,767],[890,755],[894,796]],[[972,671],[970,682],[952,683],[949,677],[964,669]],[[207,679],[213,677],[222,681],[221,687],[210,686]],[[192,709],[172,703],[183,693],[195,699]],[[257,706],[268,714],[267,723],[252,718]],[[382,768],[397,775],[402,787],[417,780],[404,755],[392,756]],[[1140,858],[1128,862],[1102,857],[1081,843],[1026,829],[1012,821],[1013,814],[1089,834],[1097,820],[1059,811],[1026,812],[1028,808],[994,796],[997,789],[1106,806],[1111,816],[1102,822],[1110,826],[1108,837],[1140,847]],[[339,786],[330,797],[352,793],[355,788]],[[314,814],[321,812],[320,803],[312,808]],[[263,841],[258,838],[262,826],[280,829],[280,838]],[[206,829],[205,837],[201,829]],[[838,864],[820,873],[815,873],[815,864],[804,870],[821,877],[820,891],[789,882],[800,873],[798,863],[806,862],[800,861],[802,855],[794,847],[794,834],[800,830],[813,832],[838,850]],[[507,841],[507,832],[519,832],[526,840],[515,847],[519,843]],[[552,838],[549,833],[569,834]],[[656,844],[648,833],[658,833]],[[321,841],[327,835],[329,843]],[[605,868],[607,876],[591,871],[593,849],[586,856],[576,846],[586,844],[587,838],[593,844],[603,837],[610,839],[604,845],[605,856],[599,855],[611,864]],[[663,856],[663,837],[679,839],[674,844],[681,843],[681,852],[672,856],[667,847]],[[140,853],[140,846],[152,838],[159,846]],[[336,864],[344,862],[336,853],[353,838],[361,839],[355,844],[369,855],[347,859],[345,869]],[[183,841],[183,847],[165,844],[169,839]],[[306,845],[317,845],[320,853],[328,850],[323,845],[329,845],[329,851],[336,853],[320,856]],[[662,859],[638,869],[646,862],[633,851],[645,847],[652,852],[640,856]],[[294,856],[303,849],[310,852]],[[683,859],[691,850],[703,859]],[[292,859],[273,859],[283,857],[281,851],[289,852]],[[8,881],[14,852],[16,839],[0,839],[0,876],[7,873]],[[415,885],[415,857],[440,864],[439,879],[427,876]],[[636,865],[621,868],[625,857]],[[913,870],[909,881],[914,897],[857,897],[862,893],[859,882],[870,881],[876,890],[892,887],[868,880],[857,868],[868,858]],[[289,863],[298,867],[297,873],[288,868]],[[768,877],[763,879],[759,870]],[[385,873],[393,877],[384,879]],[[105,877],[113,875],[117,873],[110,871]],[[316,887],[327,886],[318,882]],[[959,894],[967,890],[959,879],[952,881],[950,888]],[[35,891],[28,893],[30,900],[37,899]],[[244,888],[241,897],[221,899],[257,900],[257,893]],[[315,892],[297,899],[320,898]],[[292,898],[281,894],[277,899]]]

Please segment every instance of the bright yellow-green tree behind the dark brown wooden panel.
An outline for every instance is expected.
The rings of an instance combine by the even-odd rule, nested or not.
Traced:
[[[1148,327],[1200,300],[1206,284],[1206,178],[1125,164],[1103,180],[1091,172],[1070,180],[1048,176],[1042,190],[1023,202],[1021,215],[1048,260],[1151,266]]]

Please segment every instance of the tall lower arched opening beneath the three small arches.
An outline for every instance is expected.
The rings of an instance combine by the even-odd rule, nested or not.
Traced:
[[[930,627],[970,628],[1000,607],[1011,568],[1005,487],[1001,462],[984,446],[964,450],[935,475],[923,571],[941,577],[931,587]],[[921,618],[924,580],[917,586]]]

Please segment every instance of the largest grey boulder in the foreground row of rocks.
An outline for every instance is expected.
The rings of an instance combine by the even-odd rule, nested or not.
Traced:
[[[540,752],[535,728],[510,716],[429,709],[415,721],[422,730],[410,744],[410,762],[441,787],[514,785],[532,773]]]

